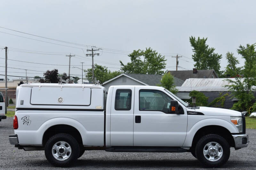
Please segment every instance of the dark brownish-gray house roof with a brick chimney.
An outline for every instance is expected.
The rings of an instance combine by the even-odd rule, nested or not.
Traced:
[[[214,69],[210,70],[179,70],[179,71],[168,71],[174,77],[177,77],[181,80],[186,80],[189,78],[219,78]]]

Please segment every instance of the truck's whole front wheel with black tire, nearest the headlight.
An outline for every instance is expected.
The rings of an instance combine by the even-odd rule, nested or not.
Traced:
[[[228,161],[230,146],[223,137],[210,134],[197,142],[195,153],[205,167],[220,167]]]

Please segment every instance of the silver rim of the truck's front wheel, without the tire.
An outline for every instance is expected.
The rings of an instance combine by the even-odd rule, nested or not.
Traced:
[[[209,142],[204,146],[204,157],[211,161],[215,162],[220,160],[220,158],[223,155],[223,148],[222,146],[217,142]]]

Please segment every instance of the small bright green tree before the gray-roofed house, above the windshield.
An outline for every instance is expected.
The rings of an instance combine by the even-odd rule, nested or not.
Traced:
[[[178,92],[178,89],[174,85],[174,77],[172,74],[170,74],[170,72],[165,73],[162,76],[162,79],[160,80],[160,82],[161,82],[161,84],[159,84],[158,86],[161,86],[161,87],[169,90],[173,94],[176,94]]]

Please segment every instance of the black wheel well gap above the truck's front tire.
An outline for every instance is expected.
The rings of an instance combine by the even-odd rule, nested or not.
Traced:
[[[192,148],[195,148],[197,141],[202,138],[205,135],[208,134],[216,134],[220,135],[221,137],[225,138],[229,144],[230,147],[235,147],[235,141],[234,138],[232,137],[230,131],[228,129],[222,127],[222,126],[217,126],[217,125],[209,125],[209,126],[204,126],[201,129],[199,129],[192,142]]]

